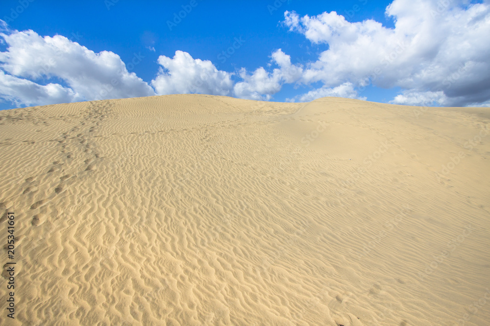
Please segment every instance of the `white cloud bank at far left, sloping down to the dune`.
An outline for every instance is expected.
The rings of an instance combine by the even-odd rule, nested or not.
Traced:
[[[155,94],[113,52],[95,53],[64,36],[41,37],[32,30],[8,30],[0,37],[8,46],[0,52],[1,78],[5,82],[0,97],[4,100],[32,105]],[[138,60],[141,58],[133,62]],[[44,85],[52,79],[67,87]]]

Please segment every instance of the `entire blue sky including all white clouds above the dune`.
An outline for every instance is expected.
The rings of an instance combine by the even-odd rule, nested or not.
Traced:
[[[488,1],[145,2],[3,0],[0,109],[172,93],[490,104]]]

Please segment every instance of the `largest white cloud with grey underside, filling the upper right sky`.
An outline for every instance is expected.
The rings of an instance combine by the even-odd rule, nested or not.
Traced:
[[[312,43],[327,43],[301,82],[324,87],[350,82],[361,90],[401,87],[393,103],[465,106],[490,99],[490,5],[464,0],[394,0],[394,28],[374,20],[347,22],[336,12],[284,24]]]

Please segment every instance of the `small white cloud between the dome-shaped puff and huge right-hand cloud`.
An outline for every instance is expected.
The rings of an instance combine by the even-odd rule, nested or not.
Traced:
[[[285,54],[281,49],[272,53],[271,61],[279,66],[271,73],[259,67],[249,74],[245,68],[242,68],[239,75],[243,82],[235,85],[235,95],[249,100],[269,101],[272,95],[281,90],[283,84],[291,84],[301,79],[303,68],[299,65],[292,65],[291,56]]]

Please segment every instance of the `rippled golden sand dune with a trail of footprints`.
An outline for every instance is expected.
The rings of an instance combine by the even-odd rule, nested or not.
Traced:
[[[0,111],[0,324],[489,325],[489,122],[334,97]]]

